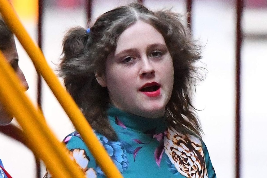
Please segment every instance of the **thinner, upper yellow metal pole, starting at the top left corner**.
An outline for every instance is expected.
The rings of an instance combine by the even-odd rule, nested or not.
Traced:
[[[55,97],[63,109],[68,114],[76,130],[81,134],[81,137],[85,141],[85,144],[90,149],[98,165],[102,171],[109,178],[123,178],[120,171],[116,168],[112,159],[108,156],[107,151],[98,141],[93,129],[88,124],[78,106],[75,104],[68,92],[60,84],[57,76],[46,62],[41,50],[31,40],[27,31],[20,23],[15,12],[12,10],[11,5],[7,0],[0,0],[0,11],[7,25],[15,33],[16,37],[27,51],[29,57],[32,59],[37,71],[43,76],[44,80],[53,91]]]

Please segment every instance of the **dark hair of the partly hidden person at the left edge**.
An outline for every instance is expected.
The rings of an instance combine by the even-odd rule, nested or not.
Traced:
[[[14,34],[7,27],[0,16],[0,50],[5,51],[12,46]]]

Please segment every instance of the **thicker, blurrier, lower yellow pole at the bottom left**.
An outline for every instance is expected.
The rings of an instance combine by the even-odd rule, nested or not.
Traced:
[[[1,102],[10,114],[15,115],[25,136],[34,147],[33,152],[45,162],[51,174],[58,178],[84,177],[84,173],[67,154],[68,150],[42,122],[44,118],[41,111],[34,109],[2,52],[0,52],[0,78]]]

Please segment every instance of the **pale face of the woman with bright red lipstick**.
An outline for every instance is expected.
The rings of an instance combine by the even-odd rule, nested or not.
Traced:
[[[118,38],[97,76],[110,100],[129,113],[157,118],[164,115],[173,90],[173,61],[163,36],[150,24],[137,21]]]

